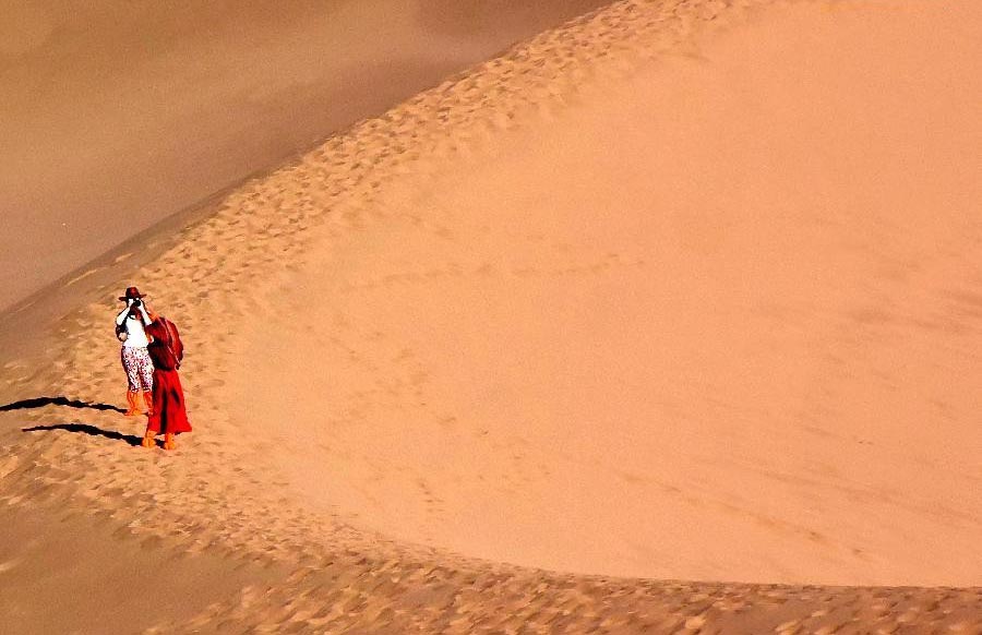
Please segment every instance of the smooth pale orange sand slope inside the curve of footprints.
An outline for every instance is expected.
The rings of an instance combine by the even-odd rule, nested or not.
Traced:
[[[778,10],[386,185],[237,340],[236,420],[482,558],[982,583],[978,14]]]

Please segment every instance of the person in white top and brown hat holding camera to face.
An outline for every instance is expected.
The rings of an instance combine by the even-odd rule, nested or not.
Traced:
[[[154,363],[146,350],[149,344],[144,326],[149,326],[151,319],[143,303],[143,295],[136,287],[129,287],[120,300],[127,308],[116,316],[116,336],[122,342],[123,370],[127,371],[127,417],[140,415],[140,396],[146,404],[147,415],[153,415],[154,402]]]

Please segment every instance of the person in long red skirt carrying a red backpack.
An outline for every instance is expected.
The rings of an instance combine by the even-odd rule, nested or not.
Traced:
[[[149,343],[146,346],[154,362],[153,411],[143,435],[144,447],[154,447],[157,434],[164,434],[164,450],[173,450],[176,434],[191,432],[184,391],[178,369],[184,357],[184,345],[173,322],[148,309],[151,324],[144,327]]]

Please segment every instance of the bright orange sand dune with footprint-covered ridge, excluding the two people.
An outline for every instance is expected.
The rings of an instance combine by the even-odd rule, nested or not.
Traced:
[[[0,323],[0,614],[980,632],[980,24],[615,2],[74,272]],[[172,453],[116,409],[128,284]]]

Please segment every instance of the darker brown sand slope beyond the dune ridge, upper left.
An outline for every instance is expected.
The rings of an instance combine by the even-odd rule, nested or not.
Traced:
[[[0,2],[0,310],[604,3]]]

